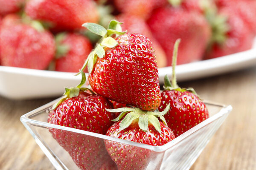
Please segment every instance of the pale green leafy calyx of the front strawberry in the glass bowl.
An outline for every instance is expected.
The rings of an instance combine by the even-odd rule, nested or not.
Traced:
[[[163,123],[167,125],[163,115],[165,115],[169,111],[169,109],[170,109],[170,104],[168,104],[167,107],[162,112],[143,111],[143,110],[140,110],[139,108],[118,108],[118,109],[106,109],[106,110],[112,113],[121,112],[116,119],[112,120],[115,122],[122,119],[122,117],[125,116],[126,114],[125,118],[122,119],[120,123],[120,127],[118,130],[119,132],[129,127],[134,120],[138,119],[139,127],[143,131],[146,132],[148,130],[148,124],[151,123],[155,127],[155,129],[159,133],[161,133],[160,122],[157,119],[157,117],[159,117],[163,121]]]

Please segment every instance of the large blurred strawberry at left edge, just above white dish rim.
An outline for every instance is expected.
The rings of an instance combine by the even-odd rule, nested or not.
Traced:
[[[53,35],[41,27],[5,20],[0,30],[2,65],[46,69],[55,54]],[[8,24],[7,24],[8,23]]]

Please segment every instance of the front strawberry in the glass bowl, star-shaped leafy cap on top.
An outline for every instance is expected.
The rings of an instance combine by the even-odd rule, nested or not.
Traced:
[[[165,114],[169,106],[162,113],[141,111],[138,108],[113,109],[113,112],[122,111],[115,120],[121,119],[125,113],[127,115],[122,121],[113,124],[108,129],[107,135],[153,146],[166,144],[172,141],[175,135],[163,122],[159,122],[156,116]],[[128,144],[105,140],[105,147],[119,170],[144,170],[148,167],[149,161],[155,159],[151,150]],[[151,167],[151,169],[157,169],[157,167]]]

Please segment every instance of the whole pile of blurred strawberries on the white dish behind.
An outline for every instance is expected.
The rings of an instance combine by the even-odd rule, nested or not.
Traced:
[[[256,0],[0,0],[0,65],[78,72],[99,36],[83,23],[124,22],[154,44],[159,67],[248,50]],[[87,70],[85,70],[87,71]]]

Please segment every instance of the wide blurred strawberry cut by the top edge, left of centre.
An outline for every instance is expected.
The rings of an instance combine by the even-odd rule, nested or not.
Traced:
[[[83,23],[99,21],[93,0],[30,0],[25,11],[33,19],[51,23],[55,31],[74,30],[82,28]]]

